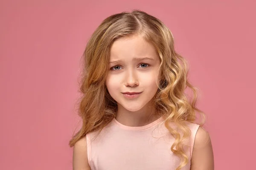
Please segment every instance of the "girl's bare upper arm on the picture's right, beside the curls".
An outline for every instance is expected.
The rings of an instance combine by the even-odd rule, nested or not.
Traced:
[[[202,127],[199,127],[195,136],[190,170],[214,170],[211,139]]]

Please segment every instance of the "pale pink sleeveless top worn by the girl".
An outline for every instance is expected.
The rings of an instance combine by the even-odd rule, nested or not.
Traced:
[[[191,137],[184,146],[190,169],[195,134],[199,125],[186,122]],[[172,125],[171,127],[175,127]],[[180,159],[171,151],[175,141],[163,118],[140,127],[122,125],[113,119],[103,130],[87,133],[87,157],[91,170],[175,170]]]

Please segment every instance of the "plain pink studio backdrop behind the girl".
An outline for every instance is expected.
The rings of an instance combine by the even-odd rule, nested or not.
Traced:
[[[135,8],[166,23],[189,60],[215,170],[255,169],[255,2],[1,0],[0,169],[72,169],[79,59],[105,17]]]

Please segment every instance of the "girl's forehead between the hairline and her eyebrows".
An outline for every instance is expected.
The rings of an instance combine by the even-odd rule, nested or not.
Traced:
[[[139,35],[121,37],[111,46],[110,60],[128,60],[139,57],[158,58],[154,45]]]

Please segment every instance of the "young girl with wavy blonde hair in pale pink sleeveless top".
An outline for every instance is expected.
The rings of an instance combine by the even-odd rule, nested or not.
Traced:
[[[114,14],[83,57],[73,170],[214,169],[209,135],[195,124],[202,112],[186,60],[160,20],[138,10]]]

